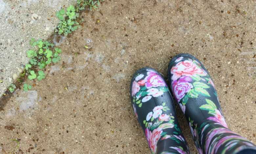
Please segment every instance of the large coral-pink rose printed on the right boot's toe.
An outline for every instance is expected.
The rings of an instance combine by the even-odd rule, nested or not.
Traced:
[[[173,74],[173,81],[177,80],[181,76],[192,76],[193,74],[197,74],[200,76],[207,75],[207,73],[205,73],[203,69],[201,69],[198,65],[190,60],[185,60],[176,64],[175,67],[172,67],[171,74]]]

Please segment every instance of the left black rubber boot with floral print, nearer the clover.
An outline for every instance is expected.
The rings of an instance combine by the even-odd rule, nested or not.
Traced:
[[[189,153],[172,96],[160,73],[147,67],[138,70],[131,82],[131,101],[152,154]]]

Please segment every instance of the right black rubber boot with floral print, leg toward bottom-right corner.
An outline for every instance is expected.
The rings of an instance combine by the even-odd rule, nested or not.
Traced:
[[[228,129],[212,79],[198,59],[189,54],[175,56],[169,63],[168,79],[200,154],[236,154],[256,149]]]

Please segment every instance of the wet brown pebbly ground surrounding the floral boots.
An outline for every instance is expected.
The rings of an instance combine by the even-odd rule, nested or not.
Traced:
[[[203,62],[229,128],[256,144],[255,9],[255,1],[239,0],[108,0],[84,13],[84,25],[60,46],[63,62],[0,112],[0,152],[149,153],[131,107],[130,79],[145,66],[166,76],[178,53]]]

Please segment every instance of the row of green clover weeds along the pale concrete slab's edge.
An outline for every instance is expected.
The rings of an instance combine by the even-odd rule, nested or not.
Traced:
[[[66,10],[61,9],[56,12],[56,16],[60,20],[55,32],[58,32],[59,35],[64,34],[67,36],[68,34],[75,31],[79,22],[83,21],[83,19],[78,18],[79,12],[85,10],[86,7],[89,7],[90,10],[97,9],[100,5],[100,2],[104,0],[77,0],[75,6],[70,5]],[[57,63],[60,61],[59,54],[62,52],[60,48],[54,48],[53,44],[49,41],[44,41],[42,39],[35,40],[31,39],[30,45],[34,49],[30,49],[27,51],[27,57],[30,58],[29,63],[25,65],[25,70],[21,73],[21,77],[25,75],[28,76],[29,81],[38,80],[41,81],[45,78],[44,68],[51,64]],[[85,48],[89,48],[85,46]],[[0,80],[0,83],[3,81]],[[19,79],[18,82],[23,82],[23,80]],[[15,85],[11,84],[9,87],[9,91],[12,93],[15,90]],[[25,83],[23,85],[23,90],[28,91],[32,89],[32,86],[29,83]]]

